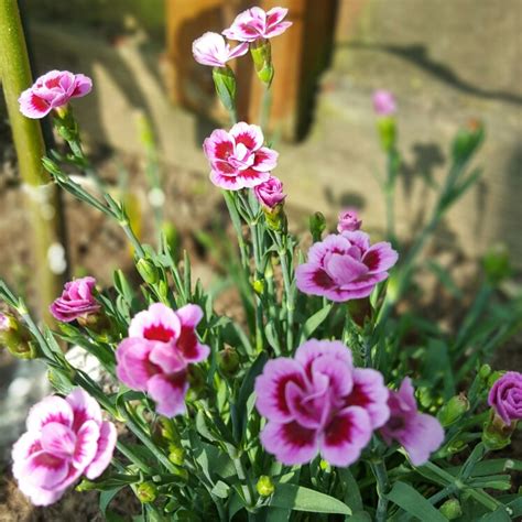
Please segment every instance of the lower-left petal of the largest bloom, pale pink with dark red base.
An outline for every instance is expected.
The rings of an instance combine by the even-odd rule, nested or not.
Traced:
[[[286,466],[309,463],[318,452],[317,432],[296,422],[279,424],[270,421],[259,438],[264,449]]]

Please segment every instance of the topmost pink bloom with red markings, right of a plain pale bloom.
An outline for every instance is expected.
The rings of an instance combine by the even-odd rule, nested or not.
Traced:
[[[261,8],[247,9],[236,17],[229,29],[222,34],[230,40],[254,42],[260,39],[271,39],[283,34],[292,22],[283,22],[289,12],[284,8],[273,8],[264,12]]]

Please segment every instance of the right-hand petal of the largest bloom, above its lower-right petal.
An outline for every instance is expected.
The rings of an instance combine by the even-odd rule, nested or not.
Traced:
[[[383,426],[390,417],[389,390],[382,373],[372,369],[354,370],[354,389],[345,400],[346,406],[360,406],[370,416],[371,427]]]

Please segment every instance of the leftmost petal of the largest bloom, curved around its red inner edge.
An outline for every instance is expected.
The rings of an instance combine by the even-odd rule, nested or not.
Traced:
[[[301,388],[305,385],[302,366],[285,357],[269,360],[263,373],[255,379],[255,407],[259,413],[272,421],[287,422],[292,412],[286,403],[286,385],[294,382]]]

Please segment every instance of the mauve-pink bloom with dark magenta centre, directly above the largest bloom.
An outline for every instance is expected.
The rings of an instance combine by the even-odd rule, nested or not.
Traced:
[[[308,262],[296,270],[297,287],[312,295],[344,302],[367,297],[377,283],[388,278],[398,253],[388,242],[370,247],[360,230],[327,236],[308,251]]]

